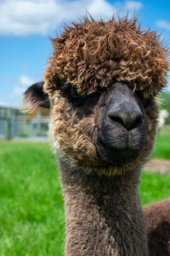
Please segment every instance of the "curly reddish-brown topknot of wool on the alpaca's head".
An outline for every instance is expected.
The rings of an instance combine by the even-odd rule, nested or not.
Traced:
[[[168,48],[156,31],[141,30],[136,23],[136,17],[108,22],[85,18],[66,26],[61,37],[52,39],[45,90],[56,89],[60,78],[91,94],[115,80],[128,82],[146,97],[156,95],[167,82]]]

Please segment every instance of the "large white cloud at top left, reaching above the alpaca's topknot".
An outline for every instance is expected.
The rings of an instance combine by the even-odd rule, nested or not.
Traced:
[[[47,35],[62,20],[75,20],[87,9],[94,18],[109,19],[117,11],[106,0],[6,0],[0,1],[0,34]]]

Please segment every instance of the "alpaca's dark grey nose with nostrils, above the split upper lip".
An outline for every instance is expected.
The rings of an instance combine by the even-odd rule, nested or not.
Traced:
[[[112,104],[108,110],[109,121],[123,125],[127,130],[142,122],[142,112],[134,100]]]

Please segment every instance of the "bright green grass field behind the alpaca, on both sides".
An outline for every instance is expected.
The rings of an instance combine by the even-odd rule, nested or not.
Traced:
[[[170,158],[160,135],[154,157]],[[52,256],[64,251],[64,207],[48,144],[0,142],[0,256]],[[170,175],[143,173],[142,204],[170,196]]]

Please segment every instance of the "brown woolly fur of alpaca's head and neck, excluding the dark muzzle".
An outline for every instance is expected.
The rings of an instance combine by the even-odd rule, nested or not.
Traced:
[[[136,22],[136,18],[106,23],[84,19],[52,39],[44,90],[51,101],[49,135],[64,188],[67,256],[149,256],[149,250],[150,255],[164,255],[152,254],[156,242],[151,236],[148,249],[138,184],[157,134],[155,96],[166,84],[170,64],[160,36],[141,30]],[[76,85],[81,94],[106,90],[86,113],[69,102],[60,90],[60,79]],[[107,92],[117,81],[131,86],[132,97],[136,92],[149,97],[151,105],[143,112],[147,143],[142,153],[133,162],[113,165],[100,154],[96,137]],[[29,95],[26,92],[25,104]]]

